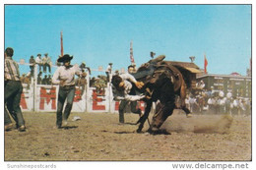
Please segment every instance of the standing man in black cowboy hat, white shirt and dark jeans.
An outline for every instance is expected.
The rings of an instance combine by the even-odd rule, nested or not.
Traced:
[[[52,77],[52,84],[59,85],[56,114],[56,126],[58,129],[62,126],[62,120],[64,121],[64,125],[67,125],[67,120],[69,118],[75,96],[75,75],[83,76],[79,67],[70,65],[70,61],[72,59],[73,56],[70,56],[69,54],[65,54],[63,57],[60,57],[57,62],[63,63],[63,66],[58,67]],[[62,110],[66,99],[67,104],[62,117]]]

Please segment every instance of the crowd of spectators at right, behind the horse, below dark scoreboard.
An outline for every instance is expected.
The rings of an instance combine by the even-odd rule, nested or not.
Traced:
[[[186,105],[192,113],[244,116],[251,114],[249,98],[234,96],[231,91],[224,93],[223,90],[214,89],[214,86],[207,90],[202,83],[198,83],[197,90],[186,96]]]

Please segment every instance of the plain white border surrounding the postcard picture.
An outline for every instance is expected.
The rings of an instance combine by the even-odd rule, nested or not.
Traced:
[[[124,1],[120,1],[120,0],[111,0],[111,1],[102,1],[102,0],[94,0],[94,1],[81,1],[81,0],[36,0],[36,1],[32,1],[32,0],[3,0],[1,1],[1,6],[0,6],[0,12],[1,12],[1,17],[0,17],[0,23],[1,23],[1,41],[0,41],[0,47],[1,47],[1,51],[2,51],[2,58],[0,60],[1,65],[3,66],[3,55],[4,55],[4,4],[252,4],[252,20],[256,18],[255,16],[255,1],[252,0],[172,0],[172,1],[166,1],[166,0],[148,0],[148,1],[138,1],[138,0],[124,0]],[[255,48],[255,43],[254,43],[254,39],[255,39],[255,26],[254,26],[254,22],[252,21],[252,55],[254,55],[254,50]],[[254,56],[252,57],[252,62],[254,65]],[[3,67],[0,67],[0,72],[4,73],[3,71]],[[253,77],[254,77],[254,69],[253,69]],[[254,80],[254,79],[253,79]],[[0,82],[3,85],[4,79],[3,76],[0,77]],[[253,83],[253,81],[252,81]],[[253,85],[253,84],[252,84]],[[3,87],[1,87],[2,92],[3,93]],[[253,90],[254,91],[254,90]],[[4,113],[3,113],[3,103],[4,103],[4,99],[3,97],[1,98],[1,115],[2,115],[2,119],[0,119],[1,122],[1,130],[0,130],[0,135],[2,138],[0,138],[0,142],[1,142],[1,154],[0,154],[0,169],[8,169],[7,168],[7,164],[8,163],[16,163],[16,162],[4,162]],[[252,101],[253,101],[253,106],[255,105],[255,92],[253,93],[253,97],[252,97]],[[255,108],[252,107],[252,117],[253,117],[253,123],[255,122]],[[253,132],[254,132],[254,125],[252,124],[253,127]],[[255,142],[255,138],[254,136],[252,136],[252,142]],[[252,148],[253,148],[253,161],[252,162],[248,162],[249,164],[249,169],[255,169],[255,145],[254,143],[252,143]],[[18,162],[20,163],[20,162]],[[51,162],[22,162],[25,164],[50,164]],[[172,169],[171,164],[175,163],[172,161],[169,162],[121,162],[121,161],[117,161],[117,162],[52,162],[53,164],[57,165],[57,169],[161,169],[161,170],[170,170]],[[178,163],[182,163],[182,162],[178,162]],[[184,163],[196,163],[196,162],[184,162]],[[203,163],[203,162],[202,162]],[[214,162],[213,162],[214,163]],[[218,163],[218,162],[216,162]],[[225,162],[221,162],[221,163],[225,163]],[[235,163],[235,162],[227,162],[227,163]],[[243,163],[243,162],[239,162],[239,163]],[[246,162],[244,162],[246,163]],[[10,168],[9,168],[10,169]]]

